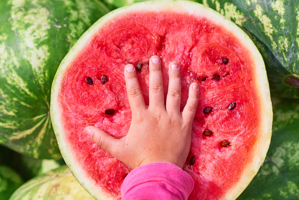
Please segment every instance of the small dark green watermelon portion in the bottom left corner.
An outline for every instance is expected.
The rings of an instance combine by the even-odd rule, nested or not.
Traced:
[[[7,200],[23,184],[23,180],[10,167],[0,165],[0,199]]]

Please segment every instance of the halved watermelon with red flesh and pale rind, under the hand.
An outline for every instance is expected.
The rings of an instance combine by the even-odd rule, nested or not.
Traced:
[[[121,198],[123,179],[131,170],[99,148],[84,129],[95,125],[115,138],[127,134],[131,110],[123,70],[126,64],[142,63],[137,76],[148,104],[153,55],[162,61],[165,98],[168,64],[180,63],[181,110],[189,85],[199,84],[183,168],[195,182],[190,199],[236,199],[259,170],[270,144],[273,113],[264,62],[237,25],[190,1],[141,2],[114,10],[90,27],[64,58],[52,85],[51,118],[68,167],[94,198]],[[232,103],[235,108],[228,109]],[[205,114],[207,107],[212,111]],[[114,114],[106,114],[108,109]],[[205,136],[205,130],[213,134]],[[232,145],[223,147],[222,141]]]

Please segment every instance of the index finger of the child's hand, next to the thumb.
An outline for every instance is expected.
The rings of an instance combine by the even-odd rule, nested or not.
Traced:
[[[132,64],[127,64],[125,67],[125,80],[128,100],[131,107],[132,117],[142,113],[146,107],[143,95],[139,86],[136,69]]]

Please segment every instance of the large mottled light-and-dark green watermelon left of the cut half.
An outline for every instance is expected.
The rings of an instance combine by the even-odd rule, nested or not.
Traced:
[[[0,144],[61,158],[50,118],[52,81],[69,49],[108,11],[98,0],[0,2]]]

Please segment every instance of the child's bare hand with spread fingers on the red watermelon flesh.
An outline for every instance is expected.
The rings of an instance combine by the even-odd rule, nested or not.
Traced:
[[[158,56],[150,58],[150,105],[144,103],[135,67],[128,64],[124,74],[132,111],[127,136],[115,139],[94,126],[86,127],[85,133],[131,169],[151,162],[169,162],[183,168],[191,144],[192,122],[199,96],[198,84],[190,85],[189,98],[181,113],[181,73],[177,62],[169,64],[166,106]]]

